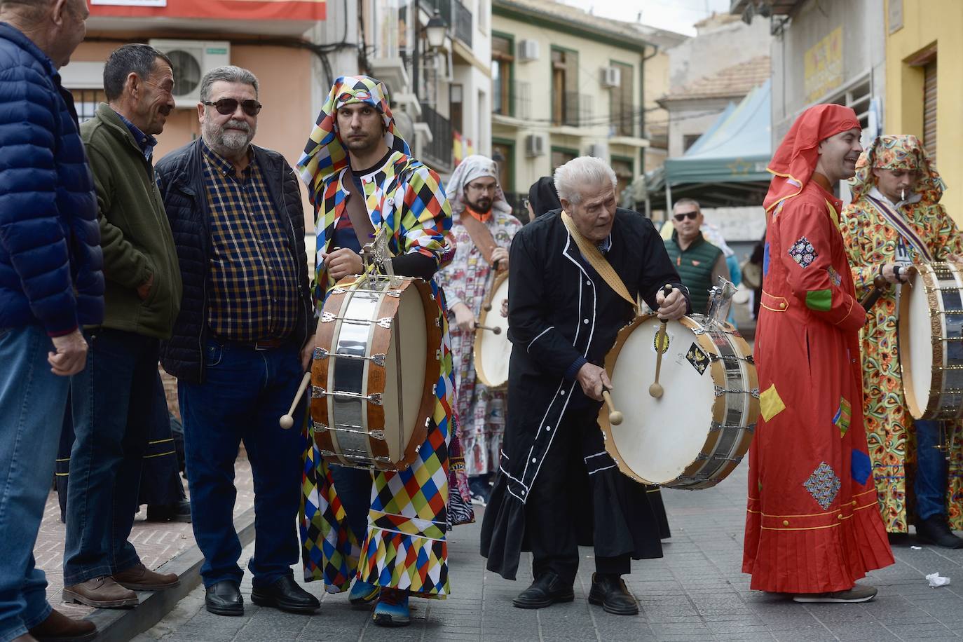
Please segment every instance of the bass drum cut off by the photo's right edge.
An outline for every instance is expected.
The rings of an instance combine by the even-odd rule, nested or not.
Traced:
[[[899,371],[913,419],[963,418],[963,273],[914,266],[899,293]]]

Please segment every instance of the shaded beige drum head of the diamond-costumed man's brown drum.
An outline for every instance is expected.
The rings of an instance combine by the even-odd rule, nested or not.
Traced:
[[[414,284],[402,291],[391,327],[384,358],[384,437],[391,461],[401,461],[418,424],[429,357],[425,306]]]

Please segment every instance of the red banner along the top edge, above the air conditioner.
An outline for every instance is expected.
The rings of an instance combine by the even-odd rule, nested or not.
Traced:
[[[135,3],[94,4],[91,6],[91,15],[218,20],[324,20],[325,0],[167,0],[165,7],[136,6]]]

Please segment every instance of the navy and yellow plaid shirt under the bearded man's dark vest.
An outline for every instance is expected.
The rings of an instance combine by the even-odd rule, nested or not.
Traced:
[[[274,211],[253,154],[238,178],[206,144],[204,186],[210,211],[207,322],[223,339],[283,339],[298,322],[298,266],[289,222]]]

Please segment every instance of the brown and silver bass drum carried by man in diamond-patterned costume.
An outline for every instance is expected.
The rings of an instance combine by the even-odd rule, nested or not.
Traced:
[[[418,456],[441,369],[438,306],[421,279],[342,279],[325,300],[311,366],[311,420],[331,463],[406,469]]]

